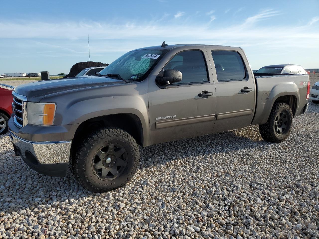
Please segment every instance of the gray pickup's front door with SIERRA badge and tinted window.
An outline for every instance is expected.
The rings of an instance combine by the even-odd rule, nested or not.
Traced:
[[[162,59],[165,66],[160,70],[181,71],[181,82],[163,87],[156,83],[155,75],[148,79],[151,144],[212,133],[216,110],[215,85],[211,69],[207,68],[205,48],[196,48],[172,49]]]

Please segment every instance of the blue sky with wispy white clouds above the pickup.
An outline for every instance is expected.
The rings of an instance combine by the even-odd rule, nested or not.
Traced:
[[[111,63],[167,44],[243,47],[253,69],[319,67],[319,1],[4,1],[0,74],[68,73],[76,62]]]

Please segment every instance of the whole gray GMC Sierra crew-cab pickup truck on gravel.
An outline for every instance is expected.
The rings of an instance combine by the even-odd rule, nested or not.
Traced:
[[[138,146],[259,125],[284,141],[305,113],[308,75],[253,74],[240,47],[166,45],[130,51],[97,76],[18,86],[9,121],[15,154],[88,190],[124,185]]]

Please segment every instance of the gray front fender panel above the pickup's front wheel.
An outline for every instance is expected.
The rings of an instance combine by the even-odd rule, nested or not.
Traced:
[[[147,80],[61,92],[41,101],[56,103],[54,125],[81,124],[85,120],[112,114],[134,114],[141,121],[144,144],[149,144]]]

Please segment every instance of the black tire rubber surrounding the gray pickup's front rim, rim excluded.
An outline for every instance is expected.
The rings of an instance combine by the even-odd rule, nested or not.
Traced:
[[[118,177],[105,181],[93,170],[93,160],[103,145],[116,143],[127,152],[127,165]],[[139,149],[135,139],[119,128],[102,128],[88,135],[79,147],[72,165],[78,181],[92,192],[106,192],[125,185],[139,164]]]

